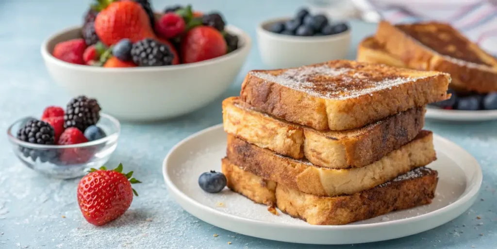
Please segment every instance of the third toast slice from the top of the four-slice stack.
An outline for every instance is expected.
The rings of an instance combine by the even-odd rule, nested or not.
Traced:
[[[314,166],[262,149],[228,134],[227,158],[264,179],[276,181],[299,191],[336,196],[353,194],[394,179],[415,167],[436,159],[432,133],[421,131],[410,143],[368,166],[332,169]]]

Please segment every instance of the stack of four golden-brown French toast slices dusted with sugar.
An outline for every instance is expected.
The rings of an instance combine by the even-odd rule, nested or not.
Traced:
[[[337,60],[254,70],[223,101],[228,187],[268,210],[341,225],[430,203],[425,105],[448,74]]]

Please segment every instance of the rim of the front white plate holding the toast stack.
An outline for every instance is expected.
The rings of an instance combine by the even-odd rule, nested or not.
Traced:
[[[482,168],[480,166],[480,164],[478,163],[478,161],[469,153],[467,152],[466,150],[464,150],[462,147],[460,147],[459,145],[457,145],[456,143],[446,139],[446,138],[443,138],[435,133],[433,133],[433,138],[434,140],[437,139],[437,140],[440,140],[446,144],[449,144],[461,151],[463,151],[464,153],[466,153],[467,155],[466,156],[469,156],[468,159],[469,160],[472,160],[474,161],[474,163],[476,164],[475,166],[475,173],[476,173],[476,184],[469,184],[469,182],[466,182],[466,187],[469,188],[471,186],[473,186],[471,189],[469,189],[469,191],[467,191],[467,193],[464,193],[461,195],[461,197],[454,201],[453,203],[445,206],[445,207],[442,207],[440,209],[437,209],[437,210],[434,210],[432,212],[429,212],[429,213],[426,213],[426,214],[422,214],[422,215],[418,215],[418,216],[414,216],[414,217],[410,217],[410,218],[405,218],[405,219],[400,219],[400,220],[394,220],[394,221],[386,221],[386,222],[381,222],[381,223],[370,223],[370,224],[347,224],[347,225],[322,225],[322,226],[309,226],[308,224],[285,224],[285,223],[271,223],[271,222],[268,222],[268,221],[261,221],[261,220],[254,220],[254,219],[249,219],[249,218],[245,218],[245,217],[240,217],[240,216],[236,216],[236,215],[233,215],[233,214],[230,214],[230,213],[226,213],[226,212],[223,212],[223,211],[220,211],[220,210],[217,210],[217,209],[214,209],[212,207],[208,207],[208,206],[205,206],[203,205],[202,203],[192,199],[191,197],[189,197],[188,195],[186,195],[184,192],[182,192],[171,180],[171,178],[169,177],[169,175],[167,174],[167,168],[168,168],[168,160],[171,158],[171,155],[180,147],[182,146],[183,144],[187,143],[189,140],[197,137],[197,136],[200,136],[202,134],[205,134],[205,133],[208,133],[208,132],[212,132],[214,130],[218,130],[218,129],[222,129],[223,127],[223,124],[217,124],[217,125],[213,125],[211,127],[208,127],[208,128],[205,128],[203,130],[200,130],[198,132],[195,132],[189,136],[187,136],[186,138],[182,139],[180,142],[178,142],[176,145],[174,145],[170,150],[169,152],[167,153],[164,161],[163,161],[163,165],[162,165],[162,171],[163,171],[163,177],[164,177],[164,180],[165,180],[165,183],[166,183],[166,189],[167,191],[169,192],[169,194],[175,199],[176,203],[182,208],[184,209],[185,211],[187,211],[190,215],[193,215],[191,212],[189,212],[187,210],[187,208],[185,208],[181,203],[180,201],[178,201],[176,198],[181,198],[183,201],[187,202],[190,206],[194,206],[198,209],[201,209],[203,210],[204,212],[208,212],[208,213],[214,213],[215,215],[217,216],[227,216],[228,218],[231,218],[233,219],[232,222],[247,222],[249,223],[250,225],[255,225],[255,226],[264,226],[264,227],[269,227],[271,229],[305,229],[307,231],[316,231],[316,232],[344,232],[344,231],[349,231],[349,230],[354,230],[354,231],[357,231],[357,230],[364,230],[364,229],[380,229],[380,228],[385,228],[385,227],[390,227],[390,226],[398,226],[398,225],[406,225],[406,224],[409,224],[409,223],[412,223],[412,222],[420,222],[420,221],[423,221],[423,220],[429,220],[430,218],[433,218],[433,217],[437,217],[439,215],[443,215],[443,214],[453,214],[453,211],[454,209],[457,209],[458,207],[460,206],[465,206],[467,204],[470,204],[470,205],[467,205],[466,208],[464,208],[464,210],[462,212],[457,212],[458,214],[453,217],[453,218],[450,218],[449,220],[443,222],[443,223],[436,223],[435,225],[433,224],[430,224],[429,226],[425,226],[425,228],[422,229],[422,231],[419,231],[419,232],[414,232],[414,233],[411,233],[411,232],[404,232],[404,236],[397,236],[397,237],[392,237],[390,239],[396,239],[396,238],[402,238],[402,237],[406,237],[406,236],[410,236],[410,235],[414,235],[414,234],[417,234],[417,233],[420,233],[420,232],[423,232],[423,231],[427,231],[427,230],[430,230],[430,229],[433,229],[435,227],[438,227],[438,226],[441,226],[447,222],[449,222],[450,220],[454,219],[454,218],[457,218],[459,217],[462,213],[464,213],[467,209],[469,209],[473,204],[474,202],[476,201],[476,197],[478,196],[478,193],[481,189],[481,185],[482,185],[482,181],[483,181],[483,173],[482,173]],[[462,169],[464,171],[464,169]],[[466,173],[465,173],[465,176],[468,176]],[[465,192],[466,192],[466,189],[465,189]],[[452,211],[452,212],[451,212]],[[219,224],[213,224],[211,222],[207,222],[205,221],[205,219],[202,219],[200,217],[197,217],[196,215],[193,215],[195,216],[196,218],[206,222],[206,223],[209,223],[213,226],[216,226],[216,227],[220,227],[220,228],[223,228],[223,229],[226,229],[226,230],[230,230],[230,229],[227,229],[225,228],[226,226],[220,226]],[[453,215],[451,215],[452,217]],[[240,234],[244,234],[244,235],[247,235],[247,236],[252,236],[252,237],[257,237],[257,238],[262,238],[262,237],[259,237],[259,236],[254,236],[254,235],[250,235],[250,234],[247,234],[247,233],[241,233],[241,232],[237,232],[237,231],[233,231],[233,230],[230,230],[232,232],[236,232],[236,233],[240,233]],[[407,230],[406,230],[407,231]],[[263,239],[269,239],[269,240],[272,240],[270,238],[263,238]],[[378,240],[375,240],[375,241],[384,241],[384,240],[390,240],[390,239],[378,239]],[[274,239],[273,239],[274,240]],[[277,240],[277,241],[283,241],[283,240]],[[358,244],[358,243],[366,243],[366,242],[375,242],[375,241],[364,241],[364,242],[354,242],[354,244]],[[307,243],[307,244],[312,244],[312,242],[295,242],[295,241],[292,241],[292,240],[288,240],[288,241],[283,241],[283,242],[293,242],[293,243]],[[315,243],[315,244],[321,244],[321,243]],[[339,245],[339,244],[343,244],[343,243],[338,243],[336,245]],[[325,245],[325,244],[322,244],[322,245]],[[327,245],[331,245],[331,244],[327,244]]]

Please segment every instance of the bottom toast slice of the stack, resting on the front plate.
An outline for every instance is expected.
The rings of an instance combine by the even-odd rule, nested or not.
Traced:
[[[222,160],[222,171],[226,174],[228,187],[233,191],[256,203],[276,205],[282,212],[312,225],[344,225],[395,210],[429,204],[434,198],[438,182],[436,170],[417,167],[359,193],[322,197],[264,180],[226,158]]]

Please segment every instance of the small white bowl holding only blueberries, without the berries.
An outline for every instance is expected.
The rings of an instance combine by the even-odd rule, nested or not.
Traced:
[[[344,59],[350,47],[347,31],[325,36],[291,36],[268,31],[271,24],[290,18],[264,21],[257,26],[257,42],[262,62],[272,68],[289,68]]]

